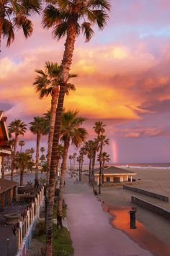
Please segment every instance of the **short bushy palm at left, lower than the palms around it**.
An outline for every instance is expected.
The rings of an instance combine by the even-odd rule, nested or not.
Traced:
[[[32,166],[31,156],[28,153],[17,153],[15,166],[20,169],[20,186],[23,186],[24,169]]]

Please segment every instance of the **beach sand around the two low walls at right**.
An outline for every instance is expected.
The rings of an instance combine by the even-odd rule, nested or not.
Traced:
[[[148,189],[151,192],[158,192],[161,195],[169,196],[170,200],[170,169],[161,168],[128,168],[129,171],[135,172],[135,179],[141,179],[140,184],[133,185],[142,189]],[[87,178],[84,177],[84,181]],[[163,202],[151,197],[143,196],[135,192],[122,189],[122,186],[102,187],[102,195],[99,199],[104,200],[109,205],[116,206],[134,206],[130,202],[131,195],[140,197],[148,202],[153,202],[162,208],[170,210],[170,202]],[[170,221],[157,216],[150,211],[137,206],[136,217],[140,223],[146,227],[151,234],[154,234],[162,242],[170,246]]]

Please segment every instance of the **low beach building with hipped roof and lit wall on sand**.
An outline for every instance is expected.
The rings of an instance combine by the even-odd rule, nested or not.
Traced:
[[[133,171],[118,168],[115,166],[104,167],[104,183],[133,182]],[[94,170],[94,181],[99,184],[99,168]]]

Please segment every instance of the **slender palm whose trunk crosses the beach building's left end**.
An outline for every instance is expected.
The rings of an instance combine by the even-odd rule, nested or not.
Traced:
[[[99,194],[101,194],[102,185],[102,150],[104,145],[109,145],[109,139],[105,135],[100,135],[99,138]]]

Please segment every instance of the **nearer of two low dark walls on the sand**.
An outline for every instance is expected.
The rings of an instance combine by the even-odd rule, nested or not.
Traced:
[[[134,196],[131,196],[131,202],[135,203],[136,205],[140,205],[141,207],[146,208],[147,210],[150,210],[151,212],[156,213],[159,216],[162,216],[170,221],[169,210],[161,208],[157,205],[153,205],[151,202],[141,200],[140,198]]]

